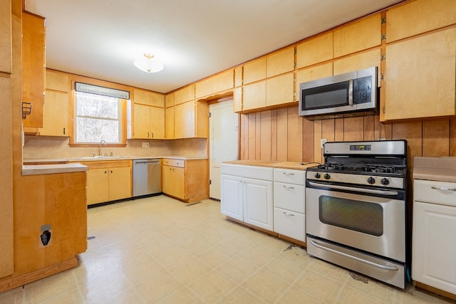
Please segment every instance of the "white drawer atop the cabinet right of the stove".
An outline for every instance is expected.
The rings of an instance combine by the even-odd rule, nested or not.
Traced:
[[[413,186],[415,201],[456,206],[456,183],[415,179]]]

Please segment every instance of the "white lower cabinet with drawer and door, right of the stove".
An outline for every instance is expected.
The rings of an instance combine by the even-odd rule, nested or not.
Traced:
[[[412,278],[456,294],[456,183],[414,180]]]

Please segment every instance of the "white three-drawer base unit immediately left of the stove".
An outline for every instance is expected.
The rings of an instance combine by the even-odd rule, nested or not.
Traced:
[[[274,232],[306,241],[306,172],[274,169]]]

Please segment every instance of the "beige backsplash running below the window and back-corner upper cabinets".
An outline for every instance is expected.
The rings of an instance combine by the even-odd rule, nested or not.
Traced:
[[[149,143],[148,148],[142,142]],[[98,147],[69,147],[68,137],[26,136],[24,142],[24,159],[49,159],[90,156],[98,152]],[[207,139],[191,138],[182,140],[127,140],[127,147],[101,146],[101,152],[127,156],[171,156],[185,157],[207,156]]]

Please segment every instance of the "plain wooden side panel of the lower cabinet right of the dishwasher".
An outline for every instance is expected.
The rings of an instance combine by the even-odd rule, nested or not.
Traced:
[[[187,199],[209,198],[209,167],[207,159],[187,160],[186,194]]]

